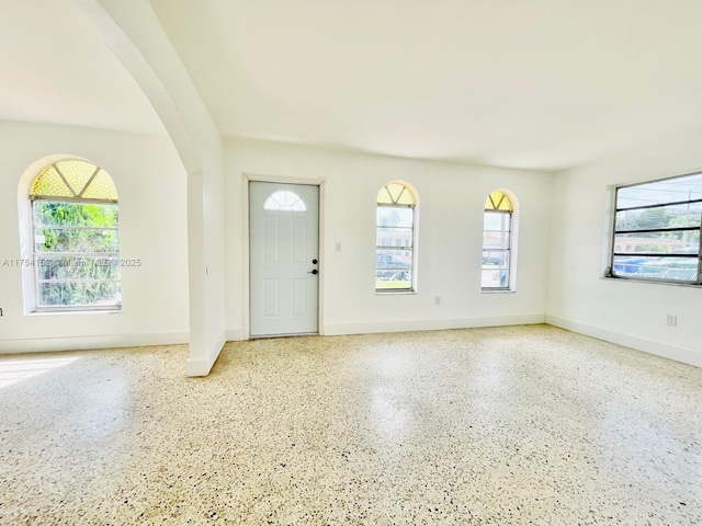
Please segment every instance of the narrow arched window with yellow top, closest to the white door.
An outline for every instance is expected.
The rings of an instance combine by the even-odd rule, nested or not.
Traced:
[[[404,183],[392,182],[377,193],[375,290],[416,289],[417,199]]]

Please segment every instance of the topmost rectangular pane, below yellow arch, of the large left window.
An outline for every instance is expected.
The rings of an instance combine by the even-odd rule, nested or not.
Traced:
[[[35,201],[34,225],[116,228],[117,205]]]

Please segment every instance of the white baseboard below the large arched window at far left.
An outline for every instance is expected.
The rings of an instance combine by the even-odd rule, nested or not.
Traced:
[[[186,332],[157,332],[145,334],[102,334],[98,336],[26,338],[0,340],[0,354],[50,353],[84,351],[90,348],[140,347],[144,345],[185,344]]]

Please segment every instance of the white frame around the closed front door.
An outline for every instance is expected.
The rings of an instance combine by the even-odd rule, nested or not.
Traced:
[[[242,313],[244,313],[244,339],[251,340],[251,266],[250,266],[250,248],[251,248],[251,226],[249,219],[249,183],[280,183],[280,184],[306,184],[308,186],[319,186],[319,287],[317,290],[317,332],[319,335],[325,334],[324,330],[324,290],[325,290],[325,180],[324,179],[305,179],[292,178],[284,175],[265,175],[261,173],[244,172],[241,174],[241,209],[244,211],[244,236],[242,236],[242,258],[244,258],[244,295],[242,295]]]

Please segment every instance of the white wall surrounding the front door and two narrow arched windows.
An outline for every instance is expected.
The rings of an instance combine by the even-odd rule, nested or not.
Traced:
[[[335,152],[258,140],[225,145],[227,335],[248,334],[242,174],[324,181],[320,287],[325,334],[533,323],[544,320],[552,175]],[[375,202],[392,180],[420,198],[418,294],[375,294]],[[482,294],[487,194],[519,199],[517,293]],[[335,252],[341,243],[341,252]],[[441,305],[434,305],[441,296]]]

